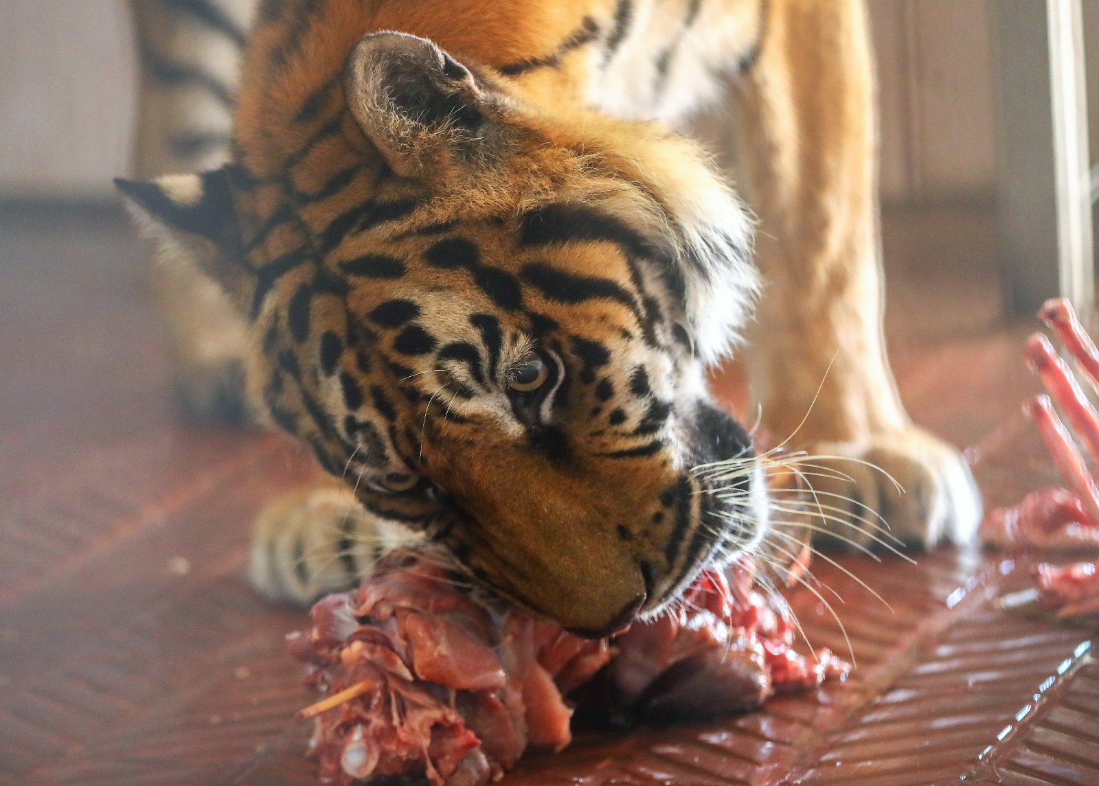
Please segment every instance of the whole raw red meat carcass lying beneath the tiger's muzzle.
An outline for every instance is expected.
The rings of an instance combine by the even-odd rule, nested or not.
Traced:
[[[790,649],[791,625],[752,590],[750,561],[704,573],[680,611],[610,640],[479,598],[412,552],[379,568],[357,593],[318,603],[312,630],[289,638],[328,695],[302,711],[325,784],[489,783],[528,746],[568,744],[565,695],[601,670],[624,709],[667,718],[752,709],[850,669],[828,650],[809,662]]]

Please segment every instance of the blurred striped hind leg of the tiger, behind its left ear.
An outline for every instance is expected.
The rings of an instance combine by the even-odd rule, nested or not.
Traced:
[[[136,175],[199,172],[229,158],[233,93],[255,0],[133,0],[141,55]],[[243,318],[187,259],[158,259],[153,287],[184,411],[249,419]]]

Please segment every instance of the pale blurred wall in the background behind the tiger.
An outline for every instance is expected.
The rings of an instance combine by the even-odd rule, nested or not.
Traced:
[[[887,204],[993,200],[996,1],[1010,0],[868,0]],[[1099,53],[1099,2],[1084,11],[1088,48]],[[1089,59],[1099,98],[1099,57]],[[125,0],[2,0],[0,199],[113,198],[110,179],[127,170],[134,89]],[[1099,119],[1090,127],[1095,154]]]

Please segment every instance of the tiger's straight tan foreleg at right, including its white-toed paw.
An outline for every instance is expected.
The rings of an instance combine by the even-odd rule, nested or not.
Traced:
[[[969,469],[909,419],[886,357],[866,10],[861,0],[768,7],[759,56],[736,88],[766,280],[753,394],[777,440],[820,457],[801,469],[831,537],[968,540],[980,516]]]

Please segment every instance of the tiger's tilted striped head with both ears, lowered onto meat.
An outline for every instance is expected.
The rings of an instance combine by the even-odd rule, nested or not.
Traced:
[[[329,77],[246,68],[223,169],[120,182],[162,263],[247,317],[257,405],[571,630],[752,549],[763,482],[706,383],[758,289],[751,222],[698,149],[539,111],[423,38],[345,52]],[[731,487],[698,471],[729,459]]]

